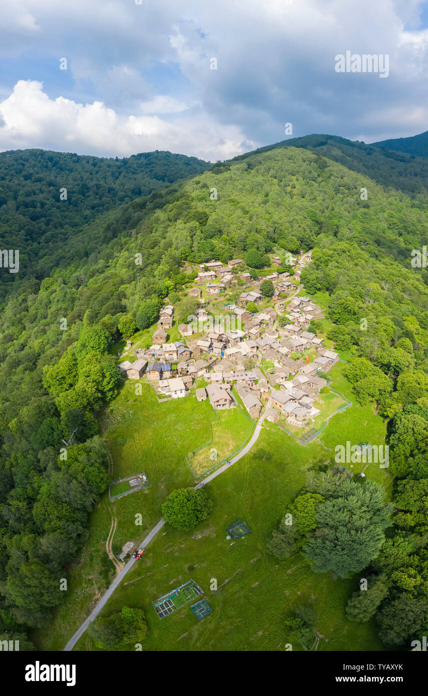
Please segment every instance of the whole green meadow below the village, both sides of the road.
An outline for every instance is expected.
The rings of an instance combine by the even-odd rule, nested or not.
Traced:
[[[314,299],[321,306],[326,304],[322,296]],[[133,337],[133,343],[148,340],[154,328]],[[332,386],[353,406],[331,418],[317,440],[299,445],[278,425],[266,422],[254,450],[263,448],[271,453],[271,459],[255,459],[250,452],[210,482],[205,488],[214,502],[209,518],[190,532],[167,526],[166,535],[158,535],[143,559],[134,564],[102,615],[124,605],[143,608],[149,628],[144,650],[283,650],[288,642],[283,619],[296,604],[303,603],[318,612],[319,651],[383,649],[371,622],[356,624],[344,618],[344,607],[358,587],[358,578],[333,580],[328,574],[314,574],[301,555],[278,562],[266,551],[271,531],[301,490],[309,469],[333,464],[336,445],[346,445],[347,441],[384,443],[383,419],[372,406],[355,403],[343,367],[338,363],[329,373]],[[335,411],[337,398],[332,392],[322,395],[323,406],[327,406],[323,420]],[[32,639],[39,649],[63,649],[114,577],[109,555],[118,554],[126,541],[141,541],[160,519],[161,503],[168,493],[194,484],[185,455],[209,441],[213,415],[208,400],[198,403],[191,395],[159,404],[147,383],[143,382],[142,395],[135,394],[134,382],[124,384],[102,416],[102,432],[113,459],[113,479],[144,470],[150,485],[113,503],[104,493],[93,512],[88,541],[68,568],[63,604],[47,628],[33,631]],[[226,450],[239,446],[250,432],[251,421],[239,409],[219,416],[216,427],[213,421],[213,442],[200,450],[200,466],[212,465],[210,448],[218,450],[220,460],[223,452],[227,456],[230,452]],[[354,471],[358,473],[363,466],[355,464]],[[383,485],[388,498],[392,484],[388,470],[370,464],[365,474],[366,480]],[[141,515],[141,525],[135,523],[137,514]],[[237,519],[245,521],[252,533],[227,540],[225,528]],[[109,530],[115,521],[111,539]],[[152,601],[190,578],[203,588],[212,614],[198,622],[188,604],[159,619]],[[215,584],[217,589],[211,589]],[[75,649],[96,648],[85,634]],[[293,649],[301,647],[296,644]]]

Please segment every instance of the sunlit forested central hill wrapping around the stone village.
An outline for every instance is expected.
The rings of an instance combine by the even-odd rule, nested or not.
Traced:
[[[140,329],[149,326],[161,303],[176,299],[189,280],[186,261],[227,262],[256,252],[263,262],[276,244],[313,249],[302,280],[309,294],[330,294],[331,338],[354,351],[348,379],[356,399],[378,404],[389,422],[397,528],[377,561],[390,575],[388,606],[426,603],[428,271],[411,267],[411,251],[428,239],[422,198],[428,169],[418,174],[423,186],[411,188],[408,164],[416,171],[417,163],[399,165],[379,148],[370,155],[361,144],[310,137],[315,152],[287,141],[98,217],[81,232],[85,255],[74,259],[74,239],[65,240],[56,251],[59,267],[41,283],[17,283],[10,291],[0,315],[3,630],[47,623],[61,601],[62,569],[106,490],[107,452],[96,416],[118,392],[109,346],[125,315]],[[331,159],[320,155],[326,152]],[[376,157],[390,170],[378,172]],[[406,182],[418,200],[398,190]],[[367,200],[360,198],[363,187]],[[58,458],[75,428],[68,458]],[[388,616],[381,620],[386,635]]]

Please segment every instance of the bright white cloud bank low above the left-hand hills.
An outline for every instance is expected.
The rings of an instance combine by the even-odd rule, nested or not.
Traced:
[[[167,103],[168,109],[182,106],[164,100],[164,108]],[[0,116],[0,150],[45,148],[109,157],[171,150],[215,161],[255,146],[245,142],[235,125],[221,127],[203,113],[174,122],[159,116],[122,116],[98,101],[51,100],[38,81],[17,82],[13,94],[0,103]]]

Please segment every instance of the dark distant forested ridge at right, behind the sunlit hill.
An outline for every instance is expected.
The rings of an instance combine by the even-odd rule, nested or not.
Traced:
[[[313,134],[303,138],[291,138],[247,152],[245,155],[238,155],[231,161],[246,159],[258,152],[269,152],[269,150],[285,147],[305,148],[310,152],[318,152],[319,155],[333,159],[352,171],[366,175],[378,184],[382,184],[383,187],[404,191],[415,199],[414,205],[418,205],[421,209],[425,210],[427,207],[428,161],[415,159],[415,155],[406,155],[404,152],[380,150],[374,147],[374,144],[366,145],[359,141],[340,138],[340,136]]]

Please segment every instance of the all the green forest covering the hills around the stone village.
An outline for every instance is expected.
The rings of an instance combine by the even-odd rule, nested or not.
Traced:
[[[428,271],[411,267],[428,240],[428,162],[308,136],[208,167],[168,152],[1,155],[3,246],[22,250],[22,269],[0,271],[0,634],[49,624],[109,486],[97,417],[120,389],[113,343],[180,299],[186,262],[260,268],[277,248],[312,249],[301,280],[328,293],[328,338],[349,351],[356,401],[388,423],[395,487],[390,506],[367,487],[357,507],[379,534],[340,565],[324,562],[314,529],[340,525],[342,507],[352,517],[356,491],[312,482],[305,553],[316,572],[364,571],[367,606],[351,596],[349,616],[376,617],[396,649],[428,624]]]

